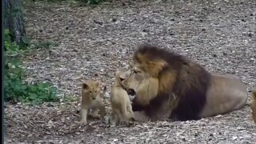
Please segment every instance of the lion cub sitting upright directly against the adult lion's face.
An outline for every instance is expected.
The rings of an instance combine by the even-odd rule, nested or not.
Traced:
[[[121,85],[121,74],[122,71],[115,73],[114,85],[110,92],[112,118],[115,125],[118,125],[120,122],[134,121],[134,112],[130,104],[130,98]]]

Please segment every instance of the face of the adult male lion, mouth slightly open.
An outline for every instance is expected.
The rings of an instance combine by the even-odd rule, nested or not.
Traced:
[[[122,86],[125,87],[127,93],[131,96],[136,94],[138,87],[141,85],[143,80],[149,78],[149,74],[146,74],[145,71],[138,67],[139,66],[131,65],[126,73],[120,75],[120,77],[123,79]]]

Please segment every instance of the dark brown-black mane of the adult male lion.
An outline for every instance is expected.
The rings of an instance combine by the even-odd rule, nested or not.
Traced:
[[[167,62],[167,66],[163,68],[159,75],[174,70],[177,73],[174,86],[170,87],[169,92],[158,92],[158,96],[150,101],[148,106],[140,106],[133,100],[133,110],[145,110],[146,114],[154,117],[154,114],[162,110],[162,103],[170,98],[170,94],[178,97],[177,106],[172,110],[170,118],[175,118],[180,121],[195,120],[199,118],[206,104],[206,93],[210,86],[210,73],[208,73],[202,66],[190,59],[179,54],[165,49],[160,49],[157,46],[144,45],[140,46],[134,52],[134,60],[140,63],[138,54],[144,54],[150,60],[163,60]]]

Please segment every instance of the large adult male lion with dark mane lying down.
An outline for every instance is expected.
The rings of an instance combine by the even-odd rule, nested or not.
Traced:
[[[246,104],[246,85],[234,75],[210,74],[179,54],[139,46],[133,64],[120,76],[133,99],[138,121],[197,120],[238,110]]]

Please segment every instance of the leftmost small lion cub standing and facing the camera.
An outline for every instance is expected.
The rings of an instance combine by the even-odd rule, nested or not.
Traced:
[[[94,80],[87,80],[82,82],[82,106],[80,113],[82,115],[81,124],[87,123],[87,116],[92,113],[94,118],[104,118],[106,115],[106,109],[102,98],[106,93],[106,86],[101,92],[100,82]],[[98,110],[100,115],[98,114]]]

